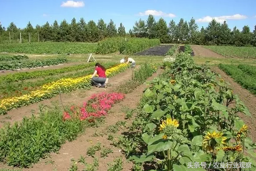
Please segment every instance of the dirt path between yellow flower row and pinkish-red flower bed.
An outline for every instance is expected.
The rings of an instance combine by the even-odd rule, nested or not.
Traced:
[[[137,66],[138,67],[138,66]],[[133,69],[128,69],[123,73],[120,73],[113,78],[109,79],[108,88],[97,88],[92,87],[90,90],[86,89],[78,89],[76,91],[72,91],[71,93],[61,94],[61,99],[63,105],[71,105],[71,104],[81,104],[83,101],[87,101],[87,99],[94,93],[99,92],[110,92],[113,88],[117,87],[118,85],[122,84],[126,80],[129,80],[132,76]],[[43,100],[39,103],[35,103],[28,106],[23,106],[18,109],[12,109],[6,115],[0,116],[0,127],[4,125],[5,122],[15,122],[20,121],[23,117],[28,117],[32,114],[32,111],[39,111],[39,104],[42,105],[52,105],[52,103],[56,103],[61,105],[60,97],[55,96],[51,99]]]

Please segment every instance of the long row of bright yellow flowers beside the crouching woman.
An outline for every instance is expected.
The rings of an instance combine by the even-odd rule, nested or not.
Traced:
[[[113,68],[106,70],[106,76],[112,77],[120,72],[123,72],[129,67],[127,64],[120,64]],[[59,79],[56,82],[50,82],[42,85],[41,89],[32,91],[31,93],[24,94],[20,97],[6,98],[0,101],[0,115],[7,113],[7,111],[19,108],[21,106],[30,105],[35,102],[42,101],[54,97],[61,93],[67,93],[74,89],[85,88],[91,85],[91,75],[80,78],[65,78]]]

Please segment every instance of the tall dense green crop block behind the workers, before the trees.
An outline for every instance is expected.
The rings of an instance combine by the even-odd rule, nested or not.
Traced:
[[[108,38],[98,43],[97,54],[110,54],[119,51],[120,54],[134,54],[160,44],[159,39],[146,38]]]

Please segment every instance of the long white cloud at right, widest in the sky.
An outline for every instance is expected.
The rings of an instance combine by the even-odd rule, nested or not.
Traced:
[[[199,23],[209,23],[213,19],[215,19],[219,23],[223,23],[224,21],[227,21],[228,19],[246,19],[247,16],[235,14],[233,16],[219,16],[219,17],[211,17],[211,16],[205,16],[204,18],[197,19],[196,21]]]

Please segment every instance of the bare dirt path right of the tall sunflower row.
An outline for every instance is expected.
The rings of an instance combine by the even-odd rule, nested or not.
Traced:
[[[248,130],[250,131],[250,137],[254,142],[256,142],[256,97],[250,93],[247,89],[243,89],[238,83],[234,82],[232,78],[230,78],[227,74],[224,73],[217,66],[211,68],[217,74],[221,75],[221,78],[224,79],[225,82],[228,82],[228,85],[235,94],[239,95],[241,101],[244,102],[252,115],[252,117],[246,117],[243,113],[239,114],[239,117],[244,120],[245,124],[248,124]]]

